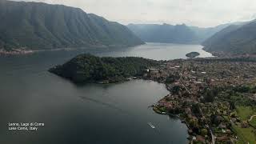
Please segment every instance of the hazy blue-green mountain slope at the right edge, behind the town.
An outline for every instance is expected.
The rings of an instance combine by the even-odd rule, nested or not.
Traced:
[[[216,54],[256,54],[256,21],[228,26],[202,45]]]

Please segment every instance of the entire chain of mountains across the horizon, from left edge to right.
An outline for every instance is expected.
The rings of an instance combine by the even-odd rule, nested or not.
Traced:
[[[171,42],[202,44],[211,53],[256,54],[256,21],[210,28],[185,24],[123,26],[70,6],[6,0],[0,0],[0,19],[0,50],[128,47],[145,42]]]

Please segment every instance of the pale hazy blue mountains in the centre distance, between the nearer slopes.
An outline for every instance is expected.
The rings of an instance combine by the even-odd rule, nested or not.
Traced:
[[[129,24],[128,28],[145,42],[199,44],[230,24],[200,28],[197,26],[169,24]]]

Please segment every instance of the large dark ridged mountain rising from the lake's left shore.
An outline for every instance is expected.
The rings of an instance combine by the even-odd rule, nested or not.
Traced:
[[[0,19],[4,50],[144,44],[126,26],[69,6],[0,0]]]

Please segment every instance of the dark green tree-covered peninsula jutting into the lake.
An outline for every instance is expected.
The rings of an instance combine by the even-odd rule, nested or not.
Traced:
[[[99,58],[90,54],[81,54],[62,66],[55,66],[50,72],[73,82],[96,82],[107,80],[119,82],[125,78],[143,74],[150,66],[158,62],[146,58]]]

